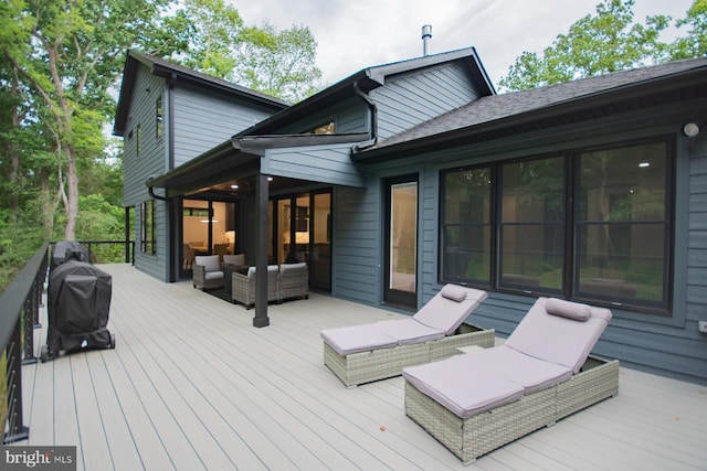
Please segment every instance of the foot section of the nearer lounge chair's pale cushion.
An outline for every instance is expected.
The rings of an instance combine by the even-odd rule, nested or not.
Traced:
[[[493,374],[478,374],[473,354],[403,368],[404,378],[421,393],[461,418],[490,410],[523,396],[519,384]],[[476,371],[476,373],[474,373]]]

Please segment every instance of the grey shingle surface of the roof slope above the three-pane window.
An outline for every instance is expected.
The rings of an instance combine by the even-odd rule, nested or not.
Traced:
[[[376,146],[361,151],[360,159],[366,159],[367,153],[384,152],[387,148],[411,143],[411,141],[424,140],[455,130],[471,130],[475,127],[499,122],[511,117],[598,98],[604,94],[627,90],[642,84],[652,84],[656,81],[676,77],[684,73],[705,69],[706,67],[707,57],[674,61],[523,92],[485,96],[378,142]]]

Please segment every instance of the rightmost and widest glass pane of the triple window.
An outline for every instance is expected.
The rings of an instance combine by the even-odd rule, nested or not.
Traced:
[[[665,143],[580,156],[576,292],[666,306]]]

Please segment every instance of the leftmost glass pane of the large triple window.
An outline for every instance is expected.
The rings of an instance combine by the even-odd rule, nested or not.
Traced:
[[[490,280],[490,168],[443,175],[443,279]]]

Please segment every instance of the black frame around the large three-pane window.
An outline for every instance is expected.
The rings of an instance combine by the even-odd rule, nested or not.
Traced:
[[[608,301],[606,299],[593,298],[588,296],[587,292],[579,292],[579,285],[574,286],[576,280],[579,278],[579,263],[580,249],[578,247],[580,225],[576,220],[579,214],[579,186],[580,186],[580,158],[582,154],[601,150],[621,150],[624,148],[640,147],[644,144],[664,144],[665,146],[665,197],[664,197],[664,218],[661,224],[664,224],[664,242],[663,254],[667,263],[663,267],[663,298],[661,301],[652,302],[642,299],[635,299],[634,301],[627,301],[622,299],[622,302]],[[563,159],[563,196],[564,203],[564,220],[561,223],[564,226],[564,242],[563,242],[563,276],[561,278],[562,286],[558,290],[544,289],[542,287],[525,287],[525,286],[502,286],[502,257],[503,250],[500,240],[500,225],[502,225],[502,197],[503,197],[503,165],[513,162],[534,161],[541,159],[560,157]],[[471,171],[474,169],[490,169],[492,174],[492,199],[489,200],[489,214],[490,214],[490,272],[487,282],[479,282],[475,279],[464,279],[462,277],[451,276],[454,274],[447,274],[445,267],[445,250],[446,240],[445,234],[450,224],[446,224],[446,191],[445,178],[449,174],[455,172]],[[530,296],[562,296],[568,300],[577,300],[582,302],[590,302],[595,306],[606,306],[610,308],[621,308],[626,311],[636,311],[640,313],[659,314],[665,318],[674,317],[673,303],[674,303],[674,274],[675,274],[675,215],[677,204],[676,199],[676,182],[677,178],[677,146],[675,136],[659,136],[645,139],[635,139],[622,142],[612,142],[605,144],[598,144],[591,147],[569,148],[561,151],[553,151],[544,154],[527,156],[523,158],[514,158],[497,161],[486,161],[477,164],[469,165],[456,165],[453,168],[441,169],[439,172],[440,179],[440,217],[437,223],[437,279],[441,283],[455,282],[464,286],[477,287],[481,289],[493,289],[498,292],[508,292],[514,295],[530,295]],[[456,223],[455,223],[456,224]],[[623,222],[622,224],[645,224],[643,222]],[[578,292],[576,295],[576,292]]]

